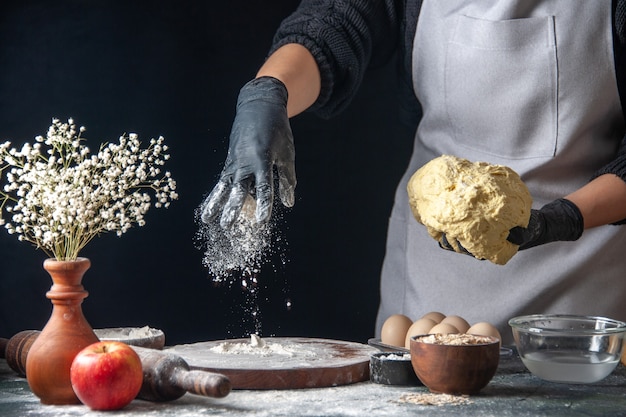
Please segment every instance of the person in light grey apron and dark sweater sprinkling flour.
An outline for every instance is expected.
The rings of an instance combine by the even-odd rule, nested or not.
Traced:
[[[490,321],[526,313],[626,319],[626,2],[598,0],[305,0],[240,92],[222,176],[204,220],[228,227],[249,193],[267,221],[273,167],[293,205],[288,118],[345,108],[373,62],[403,57],[419,124],[392,211],[376,332],[391,314]],[[419,111],[421,110],[421,111]],[[505,266],[442,251],[417,224],[408,178],[452,154],[518,172],[533,199],[521,249]],[[583,235],[583,230],[585,233]]]

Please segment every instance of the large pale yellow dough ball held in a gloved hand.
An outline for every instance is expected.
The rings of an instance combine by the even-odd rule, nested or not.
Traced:
[[[407,191],[413,215],[436,240],[445,233],[498,265],[517,253],[507,237],[513,227],[528,226],[532,198],[511,168],[443,155],[415,172]]]

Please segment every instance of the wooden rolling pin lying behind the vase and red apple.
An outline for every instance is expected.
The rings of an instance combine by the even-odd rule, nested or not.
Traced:
[[[26,356],[39,331],[25,330],[10,338],[4,350],[7,364],[22,376],[26,374]],[[222,398],[231,390],[228,377],[206,371],[191,371],[180,356],[160,350],[131,346],[141,358],[143,385],[137,398],[147,401],[171,401],[186,392]]]

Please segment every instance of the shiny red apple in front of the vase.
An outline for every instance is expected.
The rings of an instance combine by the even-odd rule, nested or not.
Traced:
[[[70,380],[78,399],[92,410],[118,410],[141,389],[141,359],[125,343],[97,342],[78,352]]]

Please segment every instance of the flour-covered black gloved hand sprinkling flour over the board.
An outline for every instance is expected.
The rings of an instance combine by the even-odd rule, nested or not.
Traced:
[[[202,221],[222,213],[220,225],[230,227],[248,194],[256,196],[255,218],[267,222],[274,200],[274,167],[282,203],[294,204],[296,187],[293,134],[287,116],[287,88],[273,77],[259,77],[239,92],[224,169],[202,203]]]

